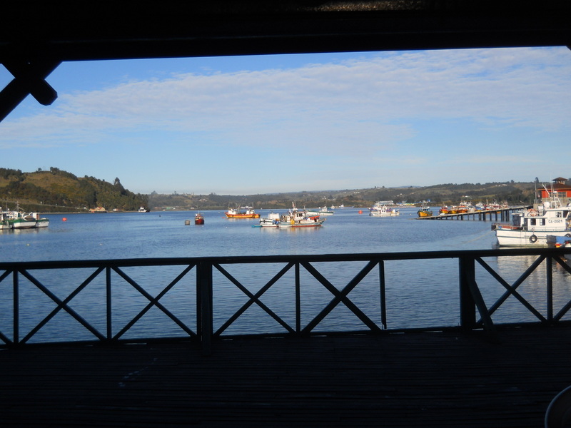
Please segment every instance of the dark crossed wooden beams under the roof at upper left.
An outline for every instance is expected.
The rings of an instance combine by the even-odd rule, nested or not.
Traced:
[[[58,93],[44,80],[54,71],[61,61],[34,60],[11,61],[2,60],[14,79],[0,92],[0,121],[31,95],[43,106],[49,106],[58,98]]]

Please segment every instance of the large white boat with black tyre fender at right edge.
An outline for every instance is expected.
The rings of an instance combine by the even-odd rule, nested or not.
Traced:
[[[547,235],[564,236],[571,232],[571,203],[562,206],[551,194],[537,208],[512,213],[512,223],[493,223],[500,247],[545,247]]]

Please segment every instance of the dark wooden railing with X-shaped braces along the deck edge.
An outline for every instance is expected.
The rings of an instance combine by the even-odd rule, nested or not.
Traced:
[[[420,253],[375,253],[375,254],[334,254],[334,255],[279,255],[261,257],[216,257],[216,258],[153,258],[153,259],[132,259],[132,260],[83,260],[83,261],[61,261],[61,262],[22,262],[22,263],[0,263],[0,347],[17,347],[38,342],[103,342],[113,343],[118,341],[147,341],[156,339],[173,340],[185,338],[200,342],[204,352],[208,352],[212,340],[233,337],[235,335],[323,335],[340,332],[367,332],[382,333],[405,330],[477,330],[485,329],[494,332],[498,322],[493,318],[497,310],[505,305],[508,298],[517,301],[520,307],[525,308],[527,315],[532,315],[532,321],[519,322],[518,324],[539,324],[554,325],[567,322],[567,312],[571,307],[571,287],[564,285],[558,292],[559,306],[554,308],[554,281],[553,271],[558,269],[557,275],[563,275],[567,284],[571,280],[565,275],[571,274],[570,263],[565,259],[565,255],[571,253],[570,249],[561,248],[518,248],[502,250],[466,250],[466,251],[440,251],[440,252],[420,252]],[[525,260],[524,269],[519,277],[513,280],[506,280],[499,272],[497,265],[500,260],[510,258],[510,260]],[[523,258],[523,259],[520,259]],[[395,290],[402,287],[405,282],[413,282],[406,278],[414,276],[414,273],[421,270],[419,266],[423,260],[432,260],[437,266],[455,263],[455,272],[443,278],[443,283],[458,284],[453,287],[458,291],[458,322],[448,325],[422,325],[389,328],[388,310],[391,304],[388,302],[388,289]],[[406,275],[398,280],[387,279],[388,263],[405,263]],[[345,272],[348,264],[358,265],[357,270],[345,275],[341,285],[333,285],[339,282],[340,271]],[[246,280],[240,279],[231,273],[232,267],[240,267],[241,273],[246,272]],[[256,268],[255,268],[256,266]],[[541,268],[540,268],[541,267]],[[168,268],[168,275],[157,270],[158,268]],[[136,278],[140,270],[150,270],[144,280]],[[401,270],[399,268],[399,270]],[[129,273],[131,272],[131,273]],[[263,272],[263,275],[261,275]],[[328,275],[333,276],[328,279]],[[537,280],[537,275],[540,280]],[[51,277],[54,274],[54,277]],[[451,275],[456,275],[453,277]],[[535,275],[534,290],[540,287],[542,298],[540,302],[530,302],[519,292],[518,287],[530,277]],[[341,275],[343,276],[343,275]],[[394,275],[393,275],[394,276]],[[422,275],[420,275],[422,276]],[[482,279],[486,277],[486,279]],[[79,280],[78,280],[79,278]],[[365,280],[366,278],[366,280]],[[494,285],[490,286],[490,278]],[[221,295],[214,295],[219,289],[220,282],[224,280],[231,284],[232,292],[238,292],[243,297],[241,305],[218,304],[219,300],[226,298],[226,291]],[[305,284],[313,282],[313,291],[310,298],[304,295]],[[26,292],[23,294],[23,284],[26,284]],[[56,285],[54,285],[54,282]],[[69,282],[75,282],[74,285]],[[121,282],[121,287],[117,283]],[[141,285],[142,282],[151,283],[149,287]],[[163,285],[157,285],[161,282]],[[166,282],[166,285],[164,285]],[[246,283],[247,282],[247,283]],[[274,297],[264,300],[263,297],[268,290],[277,287],[276,284],[286,283],[290,287],[289,292],[285,292],[281,297]],[[496,297],[490,305],[485,300],[490,300],[482,292],[482,283],[487,284],[486,289],[495,288]],[[538,283],[537,283],[538,282]],[[51,285],[49,285],[51,283]],[[85,290],[89,287],[101,287],[100,297],[90,297],[86,303],[83,297]],[[178,292],[176,299],[177,310],[180,312],[183,307],[183,315],[175,313],[172,300],[167,301],[166,296],[174,287],[182,285],[186,289]],[[315,288],[316,287],[318,288]],[[363,302],[355,302],[352,292],[360,288],[367,290],[367,295],[363,300],[367,305],[373,304],[375,307],[373,315],[370,310],[364,309]],[[423,286],[416,289],[421,290]],[[499,297],[497,289],[502,290]],[[117,297],[117,293],[125,294],[130,290],[135,295],[123,295]],[[34,290],[33,292],[31,290]],[[225,289],[228,290],[228,289]],[[318,299],[318,295],[325,297]],[[543,294],[545,292],[545,294]],[[35,294],[34,294],[35,293]],[[62,294],[63,293],[63,294]],[[83,294],[82,294],[83,293]],[[219,294],[218,290],[218,294]],[[231,292],[230,292],[231,293]],[[394,294],[394,292],[393,292]],[[417,292],[415,292],[417,294]],[[430,291],[428,292],[430,294]],[[492,293],[494,294],[494,293]],[[373,297],[371,297],[373,296]],[[484,298],[485,296],[485,298]],[[135,297],[144,300],[144,305],[136,312],[128,315],[128,320],[117,322],[117,314],[125,312],[126,302],[130,302]],[[418,296],[415,296],[418,297]],[[39,300],[49,300],[51,310],[36,310]],[[562,299],[562,302],[561,302]],[[188,302],[185,303],[185,301]],[[276,300],[279,303],[288,303],[293,307],[293,314],[290,317],[278,315],[276,310]],[[319,300],[318,302],[316,302]],[[320,310],[313,315],[305,313],[305,303],[310,301],[317,305]],[[390,300],[391,302],[393,300]],[[86,310],[76,310],[76,303],[79,306],[89,305]],[[45,303],[44,306],[45,307]],[[118,307],[120,306],[120,307]],[[273,306],[273,308],[271,307]],[[26,307],[26,311],[22,310]],[[217,308],[215,311],[215,307]],[[218,309],[220,307],[220,309]],[[236,325],[238,319],[251,307],[257,307],[264,316],[273,320],[278,326],[278,331],[258,331],[258,323],[251,322],[248,331],[231,333],[228,330]],[[362,327],[359,329],[347,330],[343,327],[335,329],[318,330],[318,326],[330,316],[336,307],[344,307],[350,314],[358,320]],[[168,318],[173,325],[176,325],[179,335],[149,335],[149,330],[145,332],[133,332],[136,325],[151,310],[158,311],[161,316]],[[437,311],[436,308],[430,308]],[[448,309],[450,310],[450,309]],[[36,312],[47,312],[39,315]],[[81,315],[80,312],[84,312]],[[393,310],[393,313],[398,310]],[[443,311],[445,312],[445,311]],[[217,323],[214,322],[216,313]],[[90,322],[86,314],[96,317],[99,322]],[[94,315],[95,314],[95,315]],[[39,332],[46,328],[56,317],[65,315],[64,320],[59,321],[59,330],[56,335],[49,340],[39,337]],[[28,318],[34,317],[36,320],[30,325]],[[26,319],[27,327],[24,329],[21,324]],[[73,321],[72,321],[73,320]],[[63,323],[63,324],[62,324]],[[81,325],[80,329],[87,332],[87,339],[69,339],[68,325]],[[121,324],[121,327],[116,327]],[[215,324],[217,326],[215,327]],[[510,322],[501,322],[502,325]],[[11,330],[11,332],[10,332]],[[21,332],[26,330],[26,332]],[[152,330],[152,327],[151,327]],[[131,332],[131,337],[127,333]],[[61,334],[60,334],[61,333]],[[156,332],[153,332],[156,333]],[[151,337],[152,336],[152,337]],[[34,342],[35,341],[35,342]]]

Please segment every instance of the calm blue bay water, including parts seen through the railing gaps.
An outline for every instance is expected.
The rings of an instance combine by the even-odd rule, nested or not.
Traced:
[[[269,212],[260,211],[262,216]],[[495,243],[490,222],[414,220],[415,208],[402,209],[396,218],[373,218],[367,210],[363,210],[363,214],[359,214],[357,209],[336,210],[335,215],[328,216],[323,227],[303,230],[253,228],[257,220],[227,219],[223,210],[205,211],[203,214],[205,225],[201,226],[193,224],[193,212],[47,215],[49,228],[4,231],[0,233],[0,245],[4,261],[26,261],[472,250],[490,249]],[[185,225],[185,220],[191,220],[191,225]],[[513,283],[534,260],[492,258],[486,262],[508,283]],[[363,265],[318,263],[316,267],[341,289]],[[256,292],[283,265],[224,267],[248,290]],[[125,272],[154,296],[181,272],[181,267],[125,268]],[[388,328],[458,325],[458,260],[387,262],[385,272]],[[34,275],[54,294],[64,298],[89,273],[46,270],[34,272]],[[181,281],[161,298],[161,302],[194,329],[194,270],[189,275],[190,280]],[[74,297],[70,306],[104,332],[104,275],[99,276]],[[554,270],[556,308],[569,300],[570,276],[560,268]],[[248,301],[248,297],[218,272],[214,273],[213,280],[216,330]],[[24,336],[54,309],[54,302],[25,278],[20,282],[20,334]],[[291,271],[262,297],[264,304],[290,325],[295,322],[293,283]],[[505,292],[505,288],[482,268],[477,269],[477,283],[488,306]],[[518,291],[540,312],[545,310],[545,266],[534,272]],[[378,293],[378,271],[373,270],[350,292],[349,297],[365,315],[380,324]],[[328,290],[302,270],[303,323],[315,317],[331,298]],[[146,304],[148,299],[128,282],[113,277],[113,333],[126,325]],[[4,280],[0,282],[0,331],[8,337],[11,337],[11,305],[11,280]],[[493,315],[493,320],[515,322],[535,319],[510,297]],[[62,340],[62,332],[66,340],[93,338],[77,324],[69,315],[60,313],[42,327],[31,342]],[[363,330],[363,325],[344,305],[338,305],[317,330]],[[266,312],[252,305],[226,330],[228,334],[241,332],[283,332],[283,327],[276,327],[276,322]],[[124,337],[180,334],[180,328],[172,320],[153,308]]]

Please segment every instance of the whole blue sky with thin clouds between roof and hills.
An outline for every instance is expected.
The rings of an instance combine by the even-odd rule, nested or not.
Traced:
[[[0,66],[0,89],[11,81]],[[3,168],[250,195],[571,177],[566,47],[61,63]]]

